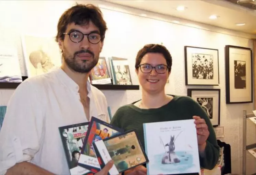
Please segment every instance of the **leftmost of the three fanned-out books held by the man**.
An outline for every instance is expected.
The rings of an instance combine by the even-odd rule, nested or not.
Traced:
[[[89,170],[78,166],[77,163],[81,154],[88,125],[89,122],[84,122],[75,125],[59,127],[60,137],[71,175],[92,174]]]

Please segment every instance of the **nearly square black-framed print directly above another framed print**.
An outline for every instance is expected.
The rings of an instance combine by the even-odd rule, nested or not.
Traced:
[[[219,51],[185,46],[186,85],[219,85]]]

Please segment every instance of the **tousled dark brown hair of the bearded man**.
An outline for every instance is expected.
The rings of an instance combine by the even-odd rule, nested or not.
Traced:
[[[76,4],[68,10],[66,10],[60,17],[58,22],[58,33],[56,41],[60,38],[64,40],[64,34],[69,24],[75,23],[75,25],[86,25],[92,21],[92,23],[99,28],[101,41],[105,38],[107,24],[103,19],[100,9],[93,4]]]

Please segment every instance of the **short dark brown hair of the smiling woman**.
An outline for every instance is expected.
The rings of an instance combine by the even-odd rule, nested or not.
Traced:
[[[172,67],[172,56],[167,50],[166,47],[160,44],[146,44],[142,49],[139,50],[136,56],[135,69],[138,70],[138,66],[141,63],[142,58],[147,53],[160,53],[163,54],[164,59],[166,59],[166,63],[169,66],[168,71],[171,71]]]

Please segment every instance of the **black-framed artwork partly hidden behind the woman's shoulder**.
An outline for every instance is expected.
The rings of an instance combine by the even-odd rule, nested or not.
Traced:
[[[205,110],[212,126],[220,125],[220,89],[187,89],[187,96]]]

